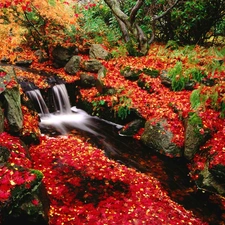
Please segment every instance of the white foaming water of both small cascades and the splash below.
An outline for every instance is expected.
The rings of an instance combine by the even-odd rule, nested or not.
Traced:
[[[56,113],[49,113],[39,90],[32,90],[29,91],[29,93],[27,92],[28,96],[32,98],[32,100],[39,103],[41,109],[40,128],[54,129],[62,135],[66,135],[71,129],[83,130],[94,135],[99,135],[99,133],[95,131],[96,129],[93,129],[96,128],[93,118],[99,118],[92,117],[82,109],[78,109],[75,106],[71,107],[69,96],[64,84],[55,85],[52,90]],[[118,129],[122,128],[121,125],[109,121],[105,122],[115,125]]]

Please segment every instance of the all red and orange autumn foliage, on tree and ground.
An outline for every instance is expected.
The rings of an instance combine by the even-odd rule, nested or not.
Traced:
[[[84,10],[92,7],[95,4],[89,3]],[[82,29],[77,23],[79,16],[83,16],[82,13],[77,14],[80,11],[74,13],[67,2],[47,0],[4,0],[0,8],[4,9],[0,14],[0,26],[4,28],[0,29],[0,58],[8,59],[12,65],[18,59],[29,58],[32,60],[31,69],[57,74],[66,83],[80,79],[80,72],[70,76],[63,68],[54,68],[51,60],[51,49],[57,44],[77,45],[79,49],[83,49],[85,43],[90,44],[73,30]],[[18,47],[22,47],[23,51],[18,51]],[[45,51],[48,56],[46,61],[38,61],[33,51],[36,49]],[[122,118],[129,110],[135,109],[145,121],[154,119],[152,125],[164,118],[168,121],[166,129],[173,133],[172,142],[180,148],[184,148],[185,144],[185,121],[196,114],[200,120],[196,134],[203,135],[210,130],[211,138],[195,155],[189,167],[190,177],[197,180],[206,162],[209,168],[225,166],[223,50],[200,46],[173,49],[156,43],[143,57],[124,54],[124,57],[119,57],[119,48],[113,50],[118,51],[118,57],[101,60],[107,70],[101,82],[116,92],[104,94],[96,87],[80,88],[76,101],[81,99],[90,103],[94,108],[93,114],[106,106]],[[80,56],[82,60],[89,59],[88,55]],[[122,76],[124,68],[141,71],[138,80]],[[146,70],[158,71],[158,75],[149,76],[144,73]],[[45,76],[18,68],[15,71],[18,78],[32,82],[40,89],[49,87]],[[166,87],[159,76],[165,72],[171,81],[170,87]],[[97,77],[97,74],[91,75]],[[0,78],[4,76],[5,73],[0,72]],[[207,82],[211,81],[214,83],[208,85]],[[185,88],[186,82],[193,84],[191,90]],[[28,100],[22,90],[21,96],[24,101]],[[30,187],[36,175],[29,169],[34,168],[44,175],[43,183],[51,205],[49,224],[52,225],[115,224],[118,221],[120,224],[205,224],[191,211],[172,201],[154,177],[108,159],[102,149],[92,146],[80,135],[42,136],[38,114],[25,105],[22,112],[21,136],[35,133],[40,143],[29,146],[30,161],[19,138],[6,132],[0,134],[1,146],[10,149],[10,166],[28,169],[21,172],[13,168],[10,171],[0,166],[1,204],[7,203],[11,190],[17,185]],[[5,126],[7,128],[7,124]],[[140,139],[142,133],[143,129],[140,129],[134,138]],[[33,203],[36,204],[35,199]]]

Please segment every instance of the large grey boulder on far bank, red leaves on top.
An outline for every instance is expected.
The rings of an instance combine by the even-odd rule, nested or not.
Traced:
[[[161,119],[158,122],[154,120],[147,121],[141,135],[141,141],[157,152],[172,157],[181,156],[182,149],[172,142],[173,133],[165,129],[167,124],[166,119]]]

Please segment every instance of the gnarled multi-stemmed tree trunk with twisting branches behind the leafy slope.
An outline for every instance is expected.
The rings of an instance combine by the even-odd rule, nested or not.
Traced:
[[[112,13],[116,17],[120,29],[123,34],[123,38],[126,43],[132,43],[132,39],[138,43],[138,53],[141,55],[146,55],[148,52],[149,45],[153,42],[155,38],[155,24],[156,21],[164,17],[169,13],[180,0],[168,0],[168,1],[147,1],[147,0],[137,0],[135,4],[131,7],[128,12],[124,12],[122,9],[123,2],[122,0],[104,0],[105,3],[112,10]],[[160,3],[158,3],[160,2]],[[127,2],[126,2],[127,4]],[[161,8],[156,12],[157,5],[165,5],[166,7]],[[150,15],[150,25],[151,25],[151,36],[150,38],[141,28],[141,21],[143,19],[140,17],[140,13],[144,13],[144,10],[147,10],[147,14]],[[155,14],[157,13],[157,14]]]

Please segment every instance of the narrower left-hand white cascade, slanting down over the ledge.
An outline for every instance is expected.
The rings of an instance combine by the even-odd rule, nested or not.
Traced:
[[[26,94],[33,102],[37,102],[42,115],[49,114],[48,107],[47,107],[39,89],[27,91]]]

